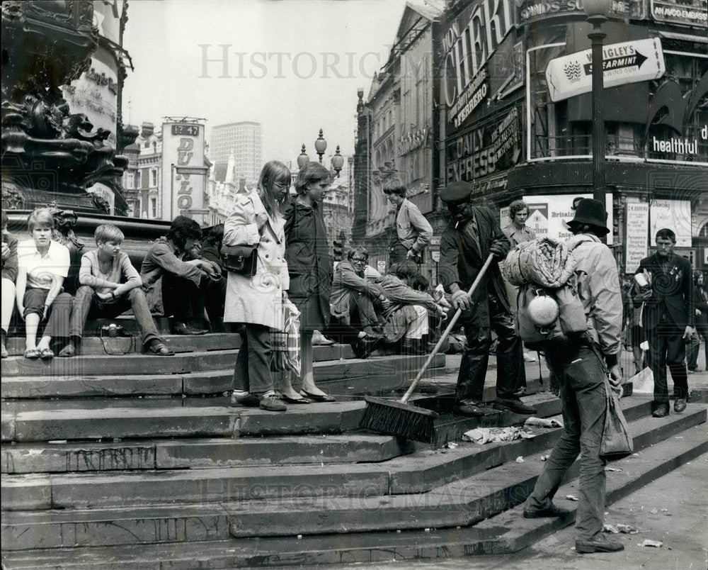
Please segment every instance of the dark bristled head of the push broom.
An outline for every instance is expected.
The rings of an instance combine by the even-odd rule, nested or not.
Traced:
[[[367,406],[359,427],[419,442],[435,441],[434,420],[438,417],[437,413],[399,401],[365,399]]]

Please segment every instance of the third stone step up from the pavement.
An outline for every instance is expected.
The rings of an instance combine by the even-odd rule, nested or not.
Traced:
[[[632,418],[637,410],[646,410],[646,406],[646,401],[624,404],[624,408],[630,412],[629,418]],[[350,418],[356,417],[357,413],[361,411],[350,410]],[[260,415],[268,421],[267,415]],[[270,415],[271,418],[283,416],[284,414]],[[303,425],[310,425],[307,418],[312,417],[312,413],[295,413],[290,423],[296,423],[299,419]],[[264,429],[272,428],[268,425]],[[552,445],[555,437],[559,435],[557,429],[539,428],[538,432],[538,437],[511,442],[509,448],[535,450]],[[183,437],[183,434],[178,437]],[[287,496],[360,498],[370,495],[425,493],[435,486],[457,481],[460,477],[489,469],[510,459],[500,449],[508,451],[506,446],[498,448],[459,445],[455,449],[424,449],[387,462],[357,465],[310,464],[7,475],[1,489],[2,508],[109,508],[127,504],[199,503],[207,500],[229,502],[248,498],[282,499]],[[518,451],[514,453],[514,457],[521,454]],[[353,479],[350,481],[350,478]],[[308,479],[309,483],[306,483]],[[332,486],[331,481],[337,483]],[[206,499],[206,496],[210,498]]]

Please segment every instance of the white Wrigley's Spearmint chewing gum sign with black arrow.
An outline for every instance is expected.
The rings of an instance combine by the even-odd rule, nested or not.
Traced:
[[[551,101],[563,101],[593,90],[592,50],[556,57],[546,67]],[[659,38],[603,46],[605,87],[658,79],[666,71]]]

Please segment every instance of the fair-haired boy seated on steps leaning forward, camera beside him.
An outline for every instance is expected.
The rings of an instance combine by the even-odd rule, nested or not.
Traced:
[[[147,298],[140,289],[140,274],[130,263],[127,254],[120,251],[124,237],[122,231],[113,224],[103,224],[96,228],[93,235],[96,250],[86,252],[81,257],[81,287],[74,298],[69,344],[59,352],[59,356],[72,357],[79,351],[89,313],[93,318],[115,318],[130,308],[142,333],[145,352],[157,356],[173,356],[174,352],[157,335]]]

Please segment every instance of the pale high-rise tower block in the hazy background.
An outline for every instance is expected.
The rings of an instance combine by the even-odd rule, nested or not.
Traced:
[[[210,155],[217,181],[226,179],[229,157],[234,155],[236,178],[255,186],[263,167],[263,129],[261,123],[243,121],[217,125],[210,134]]]

